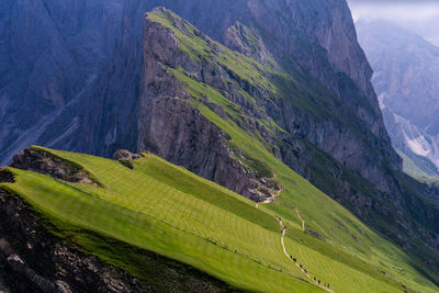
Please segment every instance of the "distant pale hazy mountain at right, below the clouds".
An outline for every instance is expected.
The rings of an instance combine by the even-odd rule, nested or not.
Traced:
[[[360,21],[357,27],[394,146],[418,170],[406,169],[417,177],[439,176],[439,47],[384,21]]]

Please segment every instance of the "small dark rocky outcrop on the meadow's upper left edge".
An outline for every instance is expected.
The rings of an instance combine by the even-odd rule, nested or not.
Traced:
[[[13,157],[11,167],[83,184],[99,184],[81,166],[40,148],[29,147]]]

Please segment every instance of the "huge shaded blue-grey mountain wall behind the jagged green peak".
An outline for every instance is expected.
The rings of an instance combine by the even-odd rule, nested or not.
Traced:
[[[5,1],[3,4],[4,31],[11,34],[4,34],[4,41],[1,42],[3,50],[8,53],[2,55],[2,63],[7,65],[3,68],[10,72],[2,78],[0,94],[7,101],[2,103],[4,111],[1,119],[5,125],[2,127],[0,156],[3,164],[30,144],[104,156],[111,156],[119,148],[135,149],[142,145],[138,138],[140,129],[135,127],[138,124],[138,92],[142,87],[142,15],[159,4],[166,4],[218,41],[226,40],[226,31],[238,21],[250,29],[258,29],[259,34],[267,35],[264,45],[273,52],[277,61],[336,91],[335,97],[328,99],[328,106],[335,108],[341,103],[347,111],[340,112],[348,112],[342,120],[348,123],[357,120],[352,123],[364,124],[368,129],[361,131],[370,133],[368,139],[378,137],[376,142],[368,143],[383,144],[383,151],[389,153],[381,160],[389,158],[392,166],[398,165],[397,156],[390,149],[390,140],[369,82],[372,71],[359,45],[352,42],[356,37],[354,27],[344,1],[327,1],[325,5],[309,1],[277,4],[270,1],[209,1],[209,7],[203,1],[113,0],[93,5],[75,5],[74,2],[68,4],[67,1],[61,5],[56,1],[36,1],[32,9],[26,4],[20,7],[21,2],[16,1]],[[215,13],[204,13],[206,16],[200,18],[204,11]],[[283,13],[284,18],[274,18],[278,12]],[[313,13],[322,14],[317,18],[318,23],[311,18]],[[63,18],[65,14],[72,20]],[[272,23],[266,22],[268,19]],[[66,25],[70,22],[78,23],[77,27]],[[94,25],[98,22],[100,26]],[[212,25],[212,22],[218,25]],[[36,23],[47,23],[47,27],[40,25],[40,32],[33,33],[30,27],[36,27]],[[26,24],[29,27],[15,27],[15,24]],[[106,32],[102,27],[114,31]],[[277,29],[275,34],[273,27]],[[337,30],[344,33],[338,34]],[[97,34],[100,38],[93,37]],[[53,41],[46,41],[47,35]],[[54,41],[56,37],[52,35],[58,35],[59,41]],[[346,53],[345,59],[340,59],[339,52]],[[38,68],[38,64],[44,64],[45,68]],[[54,64],[56,66],[52,66]],[[40,80],[34,80],[34,77]],[[306,76],[302,79],[308,80]],[[21,92],[24,90],[27,93]],[[351,99],[352,95],[358,95],[359,101]],[[293,124],[293,121],[288,123]],[[313,129],[295,132],[300,136],[308,136],[305,138],[364,176],[368,173],[371,177],[376,172],[378,168],[364,162],[368,160],[364,158],[367,151],[361,155],[346,154],[346,146],[325,143],[329,140],[326,138],[339,133],[354,137],[353,131],[342,126],[341,122],[333,124],[335,133],[320,132],[327,137],[311,137]],[[362,143],[353,144],[358,148],[365,148],[361,146]],[[382,156],[380,151],[375,153],[373,157]],[[378,181],[380,174],[373,176]]]

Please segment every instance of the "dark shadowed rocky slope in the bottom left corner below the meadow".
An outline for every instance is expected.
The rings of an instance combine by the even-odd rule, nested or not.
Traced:
[[[149,282],[130,275],[68,239],[54,236],[47,221],[18,196],[0,189],[0,291],[79,292],[229,292],[227,285],[196,270],[142,251],[151,266]],[[89,235],[93,235],[89,233]],[[105,239],[109,245],[121,245]],[[132,247],[126,247],[131,251]]]

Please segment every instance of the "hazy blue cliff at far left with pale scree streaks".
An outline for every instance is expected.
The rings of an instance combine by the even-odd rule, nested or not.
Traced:
[[[74,148],[79,109],[112,58],[122,1],[2,1],[0,158],[33,143]]]

